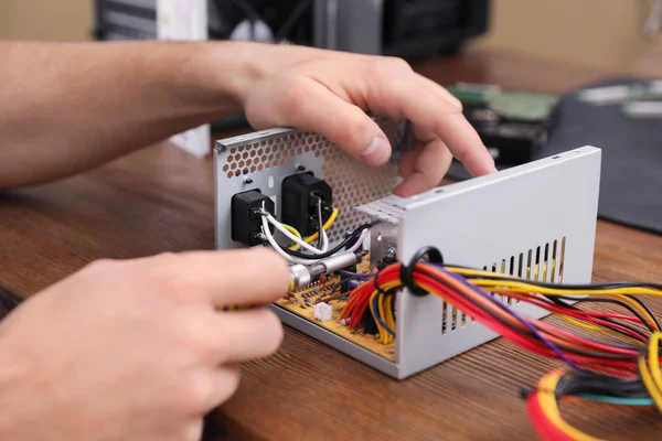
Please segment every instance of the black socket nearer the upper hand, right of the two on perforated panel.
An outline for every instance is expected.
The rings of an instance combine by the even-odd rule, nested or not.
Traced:
[[[318,203],[322,203],[322,222],[333,211],[333,191],[312,172],[298,173],[282,180],[282,223],[296,228],[302,236],[319,229]]]

